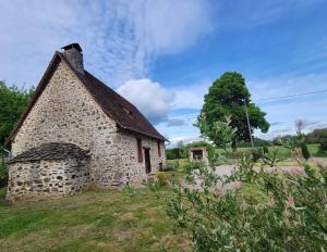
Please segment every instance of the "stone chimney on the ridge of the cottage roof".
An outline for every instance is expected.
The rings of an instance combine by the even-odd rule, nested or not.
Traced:
[[[83,51],[78,43],[70,43],[62,47],[62,54],[65,55],[73,68],[81,74],[84,74]]]

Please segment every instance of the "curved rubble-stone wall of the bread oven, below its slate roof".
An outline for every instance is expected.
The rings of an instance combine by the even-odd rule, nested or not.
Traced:
[[[88,160],[40,160],[9,164],[8,200],[39,200],[81,192],[88,186]]]

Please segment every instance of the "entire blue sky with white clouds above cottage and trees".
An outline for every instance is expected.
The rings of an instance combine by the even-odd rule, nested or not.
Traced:
[[[243,74],[272,138],[327,126],[324,0],[1,1],[0,78],[36,86],[52,53],[80,42],[85,67],[131,100],[171,140],[192,141],[203,96]]]

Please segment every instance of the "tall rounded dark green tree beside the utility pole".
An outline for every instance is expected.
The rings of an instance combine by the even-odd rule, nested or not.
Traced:
[[[237,134],[232,139],[232,147],[235,148],[238,141],[249,141],[250,133],[244,101],[247,106],[251,133],[253,134],[256,128],[267,133],[270,125],[265,119],[266,113],[251,101],[245,80],[237,72],[222,74],[209,88],[196,124],[201,133],[215,142],[213,130],[215,122],[226,121],[226,117],[230,117],[231,127],[237,129]],[[219,142],[215,143],[219,146]]]

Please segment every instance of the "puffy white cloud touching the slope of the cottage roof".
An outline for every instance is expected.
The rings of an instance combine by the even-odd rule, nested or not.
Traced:
[[[117,89],[154,124],[167,119],[174,93],[150,79],[132,79]]]

